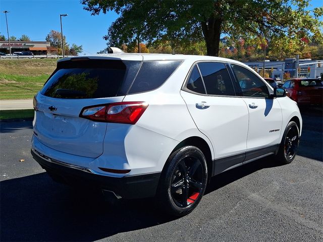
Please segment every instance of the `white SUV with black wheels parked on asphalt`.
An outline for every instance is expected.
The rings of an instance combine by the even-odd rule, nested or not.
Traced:
[[[211,176],[296,155],[302,118],[231,59],[107,54],[58,61],[34,98],[31,153],[55,180],[191,212]],[[273,156],[273,157],[274,157]]]

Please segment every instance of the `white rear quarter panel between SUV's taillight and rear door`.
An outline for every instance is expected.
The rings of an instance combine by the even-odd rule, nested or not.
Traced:
[[[209,139],[197,129],[180,95],[182,85],[193,64],[194,62],[184,61],[161,87],[149,92],[126,95],[123,101],[145,101],[149,104],[136,126],[177,142],[193,136],[200,137],[206,141],[214,158]],[[175,146],[172,150],[174,148]]]

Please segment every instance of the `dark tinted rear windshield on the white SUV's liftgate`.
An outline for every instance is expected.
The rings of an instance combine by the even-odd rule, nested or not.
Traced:
[[[103,98],[126,95],[141,62],[85,59],[59,62],[41,94],[55,98]]]

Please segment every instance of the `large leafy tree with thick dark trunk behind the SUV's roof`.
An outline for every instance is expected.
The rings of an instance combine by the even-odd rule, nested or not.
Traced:
[[[155,39],[177,43],[204,40],[208,55],[219,54],[220,36],[259,40],[288,36],[290,40],[323,42],[323,8],[307,11],[309,0],[81,0],[92,15],[115,11],[104,39],[108,44],[134,44],[138,37],[148,45]]]

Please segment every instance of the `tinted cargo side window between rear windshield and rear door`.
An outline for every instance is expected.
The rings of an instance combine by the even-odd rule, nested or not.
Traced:
[[[147,92],[163,85],[182,61],[143,62],[129,94]]]

